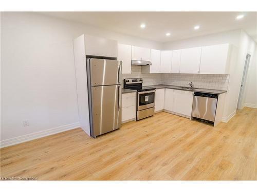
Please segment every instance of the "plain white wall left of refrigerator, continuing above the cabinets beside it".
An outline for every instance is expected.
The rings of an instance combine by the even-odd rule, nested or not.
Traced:
[[[2,12],[2,147],[79,126],[72,40],[83,33],[123,44],[162,46],[36,13]]]

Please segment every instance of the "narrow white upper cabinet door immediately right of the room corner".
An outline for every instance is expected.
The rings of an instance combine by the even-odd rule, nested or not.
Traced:
[[[161,51],[160,73],[171,73],[172,51]]]

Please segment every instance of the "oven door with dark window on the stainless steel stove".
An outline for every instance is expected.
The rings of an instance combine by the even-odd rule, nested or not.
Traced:
[[[155,102],[155,90],[138,92],[137,111],[153,108],[154,102]]]

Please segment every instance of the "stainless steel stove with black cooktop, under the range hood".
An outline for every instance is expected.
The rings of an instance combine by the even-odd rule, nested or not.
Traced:
[[[154,115],[155,88],[143,86],[142,78],[124,79],[124,89],[137,90],[137,120]]]

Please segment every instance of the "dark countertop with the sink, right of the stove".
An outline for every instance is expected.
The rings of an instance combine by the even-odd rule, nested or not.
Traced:
[[[180,87],[183,87],[183,86],[168,86],[166,84],[157,84],[157,85],[148,86],[148,87],[153,87],[155,89],[168,88],[168,89],[176,89],[176,90],[191,91],[191,92],[201,92],[201,93],[212,93],[212,94],[222,94],[222,93],[227,92],[225,90],[202,89],[202,88],[198,88],[198,89],[195,89],[195,90],[180,89]]]

